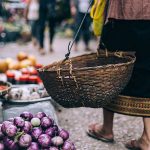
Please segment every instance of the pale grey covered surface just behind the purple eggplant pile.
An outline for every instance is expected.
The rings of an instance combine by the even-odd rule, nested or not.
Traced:
[[[24,111],[29,111],[33,114],[37,112],[44,112],[47,115],[50,115],[58,125],[58,119],[55,113],[55,109],[51,104],[51,99],[32,104],[13,104],[0,99],[0,122],[7,120],[8,118],[18,116]]]

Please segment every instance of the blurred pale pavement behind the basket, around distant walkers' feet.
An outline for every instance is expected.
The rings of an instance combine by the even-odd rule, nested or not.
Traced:
[[[49,45],[48,45],[48,40],[46,40],[45,49],[47,53],[44,56],[41,56],[39,54],[37,48],[33,47],[32,43],[26,43],[26,44],[8,43],[5,46],[0,47],[0,57],[15,58],[19,51],[24,51],[29,54],[34,54],[37,57],[39,63],[47,65],[54,61],[58,61],[65,58],[65,54],[68,51],[68,43],[70,40],[71,39],[69,38],[63,39],[63,38],[56,37],[53,43],[53,47],[54,47],[53,53],[50,53],[48,51]],[[95,40],[90,42],[90,47],[93,49],[93,52],[96,51],[97,43],[95,42]],[[78,49],[79,49],[78,52],[72,50],[71,56],[77,56],[85,53],[84,45],[82,41],[79,43]]]

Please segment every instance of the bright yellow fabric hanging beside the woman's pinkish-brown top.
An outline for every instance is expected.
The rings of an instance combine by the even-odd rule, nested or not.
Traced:
[[[106,0],[94,0],[90,16],[93,19],[93,31],[96,36],[100,36],[104,24],[104,11]]]

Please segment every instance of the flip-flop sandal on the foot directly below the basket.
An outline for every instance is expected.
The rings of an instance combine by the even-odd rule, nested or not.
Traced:
[[[97,125],[98,125],[98,123],[90,125],[87,129],[87,135],[94,139],[101,140],[103,142],[113,143],[114,139],[113,138],[105,138],[102,135],[102,133],[96,129]]]

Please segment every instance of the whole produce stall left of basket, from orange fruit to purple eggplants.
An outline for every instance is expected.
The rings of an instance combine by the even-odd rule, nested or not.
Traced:
[[[0,150],[75,150],[38,77],[41,66],[24,52],[0,60]]]

